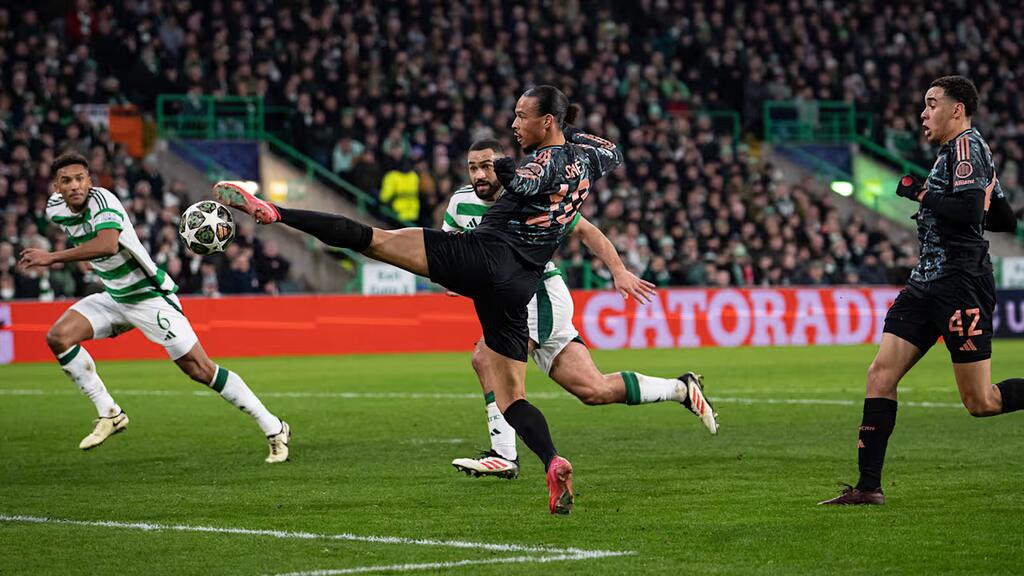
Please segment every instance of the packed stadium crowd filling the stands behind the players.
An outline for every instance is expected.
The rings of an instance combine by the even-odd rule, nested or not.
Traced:
[[[280,256],[248,230],[219,260],[187,257],[174,234],[177,183],[156,180],[75,104],[152,111],[162,92],[262,96],[291,111],[271,115],[271,130],[402,219],[436,227],[465,181],[468,145],[496,135],[513,150],[515,98],[538,83],[562,87],[583,105],[586,129],[624,147],[626,166],[594,188],[588,217],[651,281],[900,283],[916,259],[910,234],[841,218],[821,184],[785,183],[700,111],[738,111],[743,132],[758,134],[767,99],[848,100],[878,113],[880,142],[927,165],[921,93],[962,73],[981,90],[977,124],[1016,191],[1022,29],[1024,9],[991,0],[941,11],[880,0],[79,0],[57,19],[0,7],[0,287],[37,297],[48,282],[60,296],[88,280],[70,270],[44,282],[9,266],[8,253],[29,243],[61,241],[39,207],[47,161],[63,147],[87,153],[183,291],[274,291],[287,272],[283,262],[254,273]],[[575,242],[561,257],[574,286],[607,279],[600,264],[586,271]]]

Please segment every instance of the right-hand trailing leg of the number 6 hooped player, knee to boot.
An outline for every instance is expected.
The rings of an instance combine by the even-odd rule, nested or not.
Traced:
[[[288,422],[271,414],[249,388],[242,376],[214,364],[199,343],[193,346],[188,354],[175,360],[174,363],[188,377],[210,386],[231,406],[256,420],[269,445],[267,463],[273,464],[288,460],[288,441],[292,435]]]

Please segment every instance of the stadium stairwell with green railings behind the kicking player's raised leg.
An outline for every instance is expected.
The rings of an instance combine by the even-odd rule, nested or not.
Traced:
[[[410,225],[387,206],[321,166],[265,129],[261,98],[198,98],[163,94],[157,104],[158,158],[165,173],[185,180],[190,193],[223,179],[261,183],[260,196],[289,208],[321,210],[392,229]],[[365,258],[325,246],[286,227],[260,234],[273,239],[300,275],[302,288],[357,292]]]

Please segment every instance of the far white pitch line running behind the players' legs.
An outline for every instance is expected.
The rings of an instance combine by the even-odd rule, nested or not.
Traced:
[[[215,396],[210,390],[146,390],[146,389],[114,389],[115,396]],[[745,392],[745,390],[744,390]],[[753,392],[753,390],[750,390]],[[773,390],[765,390],[773,392]],[[43,388],[0,388],[0,396],[80,396],[75,389],[43,389]],[[339,399],[339,400],[474,400],[480,395],[461,393],[358,393],[358,392],[261,392],[260,398],[293,398],[293,399]],[[541,392],[529,394],[529,398],[538,400],[575,400],[567,393]],[[726,404],[790,404],[813,406],[860,406],[862,400],[825,399],[825,398],[736,398],[709,396],[712,402]],[[901,401],[900,406],[912,408],[962,408],[954,402],[924,402]]]

